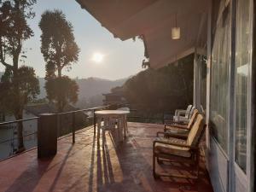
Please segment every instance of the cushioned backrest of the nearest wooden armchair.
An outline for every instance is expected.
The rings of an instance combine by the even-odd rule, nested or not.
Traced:
[[[200,143],[201,135],[205,128],[205,119],[201,114],[198,114],[194,125],[192,125],[187,138],[187,144],[190,146],[197,146]]]

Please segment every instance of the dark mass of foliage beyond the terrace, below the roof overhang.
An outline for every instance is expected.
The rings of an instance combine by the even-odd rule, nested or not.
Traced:
[[[193,102],[194,55],[154,70],[148,68],[124,84],[125,97],[134,108],[173,112]]]

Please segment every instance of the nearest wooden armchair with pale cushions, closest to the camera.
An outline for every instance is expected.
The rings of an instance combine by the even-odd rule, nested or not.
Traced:
[[[153,175],[158,177],[185,177],[177,174],[161,174],[155,171],[155,160],[160,164],[162,161],[176,161],[189,163],[195,166],[196,177],[199,176],[199,160],[200,148],[199,143],[205,131],[205,120],[201,114],[198,114],[195,124],[189,131],[187,140],[178,139],[175,135],[171,138],[160,137],[160,134],[165,132],[158,132],[157,137],[153,143]],[[172,135],[171,135],[172,136]]]

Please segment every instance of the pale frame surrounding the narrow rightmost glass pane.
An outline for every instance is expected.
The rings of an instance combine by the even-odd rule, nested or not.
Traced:
[[[231,1],[231,62],[230,62],[230,173],[229,173],[229,191],[239,191],[236,187],[241,187],[241,192],[253,192],[251,189],[251,180],[252,180],[252,66],[253,66],[253,0],[250,0],[250,13],[249,13],[249,22],[250,22],[250,61],[248,68],[248,81],[247,81],[247,172],[243,172],[241,167],[236,163],[235,160],[235,150],[236,150],[236,9],[237,2],[240,0]],[[245,190],[246,189],[246,190]],[[240,191],[239,191],[240,192]]]

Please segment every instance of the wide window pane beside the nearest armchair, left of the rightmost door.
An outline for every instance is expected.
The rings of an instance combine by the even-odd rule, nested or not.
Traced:
[[[216,26],[212,44],[211,113],[212,135],[227,152],[230,103],[230,7]]]

